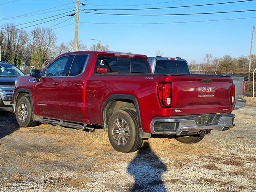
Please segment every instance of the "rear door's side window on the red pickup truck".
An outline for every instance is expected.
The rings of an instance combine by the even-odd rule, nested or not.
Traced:
[[[76,76],[82,73],[88,55],[76,55],[71,66],[69,76]]]

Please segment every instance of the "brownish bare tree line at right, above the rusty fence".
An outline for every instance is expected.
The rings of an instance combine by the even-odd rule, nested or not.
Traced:
[[[197,63],[195,60],[190,62],[190,70],[243,70],[249,69],[249,56],[240,56],[232,58],[230,55],[224,55],[222,58],[213,57],[212,54],[206,54],[203,62]],[[256,68],[256,54],[252,54],[251,71]]]

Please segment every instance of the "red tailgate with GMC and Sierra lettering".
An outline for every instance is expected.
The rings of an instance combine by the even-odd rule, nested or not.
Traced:
[[[173,114],[231,112],[232,78],[189,76],[172,80]]]

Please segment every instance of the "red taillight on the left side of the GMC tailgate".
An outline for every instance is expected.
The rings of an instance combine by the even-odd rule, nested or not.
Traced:
[[[172,84],[158,83],[157,94],[161,107],[171,107]]]

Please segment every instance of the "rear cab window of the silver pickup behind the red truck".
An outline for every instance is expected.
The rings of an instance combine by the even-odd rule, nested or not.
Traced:
[[[183,73],[189,74],[188,64],[178,60],[157,60],[154,73]]]

